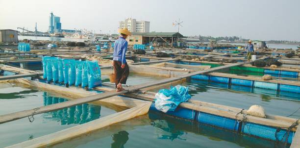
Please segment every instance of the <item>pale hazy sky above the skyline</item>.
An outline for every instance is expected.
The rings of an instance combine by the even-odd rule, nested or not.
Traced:
[[[0,0],[0,29],[47,31],[50,12],[63,29],[116,32],[127,17],[150,21],[150,31],[300,41],[300,0]]]

